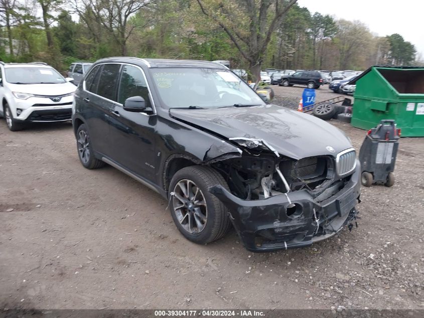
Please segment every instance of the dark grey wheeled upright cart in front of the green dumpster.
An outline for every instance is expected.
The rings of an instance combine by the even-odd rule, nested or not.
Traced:
[[[368,131],[359,151],[362,185],[394,184],[393,170],[399,148],[399,137],[400,129],[396,129],[394,120],[382,120],[377,127]]]

